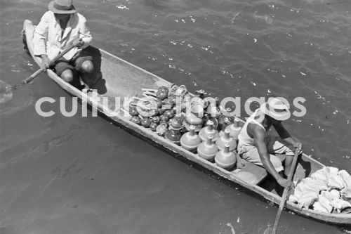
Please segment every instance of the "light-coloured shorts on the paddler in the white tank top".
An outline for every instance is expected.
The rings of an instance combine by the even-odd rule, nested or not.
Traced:
[[[278,136],[271,136],[267,135],[265,138],[265,143],[267,145],[267,150],[270,153],[270,162],[272,162],[274,169],[278,172],[283,171],[284,167],[282,162],[279,160],[279,157],[273,154],[280,154],[280,155],[289,155],[293,156],[293,151],[288,148],[282,138]],[[284,144],[285,143],[285,144]],[[260,160],[260,154],[258,153],[258,149],[255,145],[243,145],[240,143],[238,144],[238,153],[239,156],[242,157],[244,160],[257,164],[258,166],[263,167],[263,164]]]

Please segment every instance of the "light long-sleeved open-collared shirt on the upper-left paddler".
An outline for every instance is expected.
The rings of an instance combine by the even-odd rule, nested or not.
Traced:
[[[65,32],[62,34],[60,22],[56,20],[52,11],[46,11],[34,30],[34,55],[46,54],[52,60],[72,41],[79,38],[83,39],[84,46],[72,48],[63,58],[71,60],[78,51],[91,43],[91,34],[86,27],[86,18],[79,13],[71,14]]]

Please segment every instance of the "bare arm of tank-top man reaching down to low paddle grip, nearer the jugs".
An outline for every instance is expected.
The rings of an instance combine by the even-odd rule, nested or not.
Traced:
[[[258,149],[258,154],[260,155],[260,160],[268,171],[269,174],[279,183],[280,186],[285,188],[291,188],[293,183],[286,180],[274,169],[272,162],[270,162],[270,154],[267,152],[267,146],[265,144],[265,131],[260,126],[253,126],[253,138],[255,140],[256,148]]]

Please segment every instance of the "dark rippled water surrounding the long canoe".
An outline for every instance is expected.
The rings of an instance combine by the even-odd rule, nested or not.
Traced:
[[[1,81],[18,84],[37,70],[19,36],[23,20],[38,22],[46,2],[0,0]],[[95,46],[171,82],[220,98],[305,98],[307,114],[286,128],[308,155],[350,171],[349,1],[75,6]],[[34,105],[42,96],[70,100],[41,74],[0,103],[0,233],[263,233],[274,222],[276,207],[105,119],[39,117]],[[288,212],[280,223],[282,233],[350,233]]]

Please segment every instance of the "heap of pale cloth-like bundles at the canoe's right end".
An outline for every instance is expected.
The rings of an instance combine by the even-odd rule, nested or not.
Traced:
[[[289,200],[318,212],[350,212],[351,176],[345,170],[324,167],[300,181]]]

